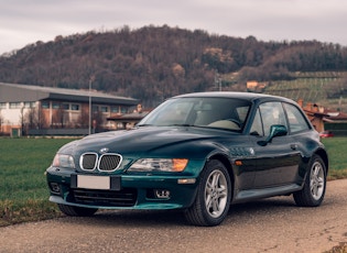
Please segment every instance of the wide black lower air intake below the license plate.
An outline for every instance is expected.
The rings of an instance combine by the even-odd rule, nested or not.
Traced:
[[[90,206],[132,207],[137,202],[137,189],[94,190],[72,189],[75,202]]]

